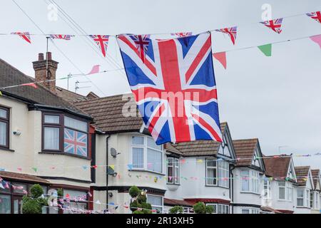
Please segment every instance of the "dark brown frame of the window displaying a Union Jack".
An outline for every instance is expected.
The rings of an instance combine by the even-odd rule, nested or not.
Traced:
[[[59,117],[59,123],[58,124],[57,123],[46,123],[45,122],[45,116],[46,115],[58,116]],[[65,117],[86,122],[87,132],[84,132],[83,130],[78,130],[78,129],[75,129],[75,128],[66,127],[65,126],[65,121],[64,121]],[[44,129],[45,128],[58,128],[59,129],[59,145],[58,145],[59,149],[58,150],[52,150],[52,149],[45,149],[44,148],[44,140],[45,140],[45,138],[44,138],[45,137]],[[68,130],[73,130],[75,132],[80,132],[80,133],[84,133],[84,134],[87,135],[87,156],[75,155],[75,154],[71,154],[71,153],[68,153],[68,152],[64,151],[63,143],[64,143],[64,130],[65,130],[65,128],[68,129]],[[41,114],[41,152],[44,152],[44,153],[46,153],[46,152],[48,152],[48,153],[54,152],[54,153],[58,153],[58,154],[62,154],[62,155],[70,155],[70,156],[74,156],[74,157],[82,157],[82,158],[88,159],[90,157],[90,155],[89,155],[89,136],[90,136],[90,133],[89,133],[89,122],[86,119],[79,118],[79,117],[76,117],[76,116],[73,116],[73,115],[69,115],[67,113],[60,113],[60,112],[44,111]]]

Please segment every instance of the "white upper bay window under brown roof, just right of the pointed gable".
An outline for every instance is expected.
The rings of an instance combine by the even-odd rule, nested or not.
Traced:
[[[255,170],[241,170],[242,192],[259,193],[260,175]]]

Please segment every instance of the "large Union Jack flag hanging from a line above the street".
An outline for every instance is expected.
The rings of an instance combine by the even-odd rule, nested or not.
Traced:
[[[143,62],[133,38],[118,36],[128,82],[156,144],[221,142],[210,33],[148,41]]]

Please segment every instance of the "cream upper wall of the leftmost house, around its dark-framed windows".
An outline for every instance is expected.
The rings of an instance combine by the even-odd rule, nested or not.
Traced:
[[[22,173],[44,177],[51,183],[86,187],[89,190],[91,174],[81,167],[90,166],[90,160],[41,153],[41,111],[29,110],[26,103],[11,98],[0,97],[0,104],[10,109],[10,150],[0,148],[0,167],[9,172],[18,172],[17,169],[21,168]],[[16,130],[21,135],[14,135]],[[32,167],[37,167],[37,172]]]

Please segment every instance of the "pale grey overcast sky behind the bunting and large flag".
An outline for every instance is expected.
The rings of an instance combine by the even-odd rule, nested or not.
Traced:
[[[44,33],[76,34],[70,22],[58,11],[52,17],[49,0],[15,0]],[[282,41],[321,33],[321,24],[307,16],[284,19],[280,34],[262,24],[261,6],[272,6],[272,18],[320,11],[320,0],[54,0],[68,16],[88,34],[118,33],[194,33],[239,26],[235,46],[222,33],[213,33],[213,51],[226,51],[247,46]],[[29,31],[41,33],[11,0],[1,0],[0,33]],[[68,22],[68,24],[67,24]],[[165,38],[168,36],[153,36]],[[152,37],[152,38],[153,38]],[[16,36],[0,36],[0,58],[19,70],[34,76],[32,61],[46,51],[45,36],[32,36],[28,44]],[[59,62],[57,78],[68,73],[88,73],[93,65],[101,70],[122,68],[115,38],[111,38],[108,53],[102,58],[96,46],[86,38],[55,41],[56,46],[72,61],[49,43],[49,51]],[[228,121],[233,139],[259,138],[266,155],[281,153],[307,154],[321,152],[321,51],[310,39],[272,46],[272,57],[265,57],[258,48],[227,53],[228,69],[214,62],[218,86],[220,120]],[[114,62],[111,64],[110,62]],[[116,62],[116,63],[115,63]],[[78,93],[93,91],[98,95],[128,93],[129,86],[122,71],[72,78],[81,81]],[[58,81],[66,88],[66,81]],[[321,168],[321,156],[295,158],[295,165]]]

